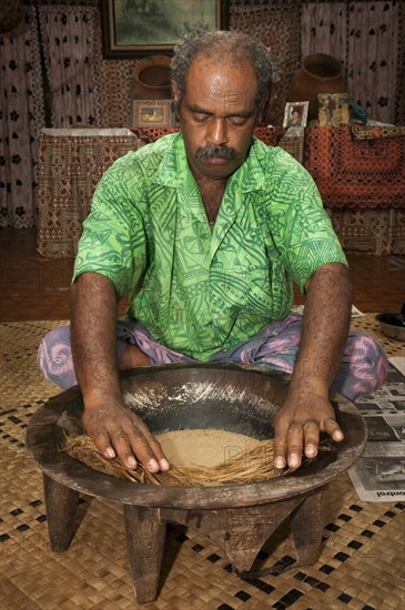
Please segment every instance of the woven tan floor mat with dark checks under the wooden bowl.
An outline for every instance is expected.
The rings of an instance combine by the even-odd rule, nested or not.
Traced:
[[[294,610],[350,608],[397,610],[404,601],[404,508],[401,502],[362,502],[346,475],[330,486],[320,560],[295,563],[287,526],[266,542],[249,580],[232,571],[223,551],[199,532],[168,530],[161,590],[153,603],[134,601],[120,506],[83,497],[78,531],[64,553],[50,550],[40,469],[24,449],[30,416],[54,386],[41,379],[36,354],[58,322],[1,326],[2,414],[1,583],[7,610]],[[357,328],[378,333],[374,315]],[[387,353],[398,355],[401,344]]]

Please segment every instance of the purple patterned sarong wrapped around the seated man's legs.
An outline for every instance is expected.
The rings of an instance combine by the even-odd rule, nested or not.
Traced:
[[[211,363],[232,363],[269,367],[292,373],[301,340],[302,316],[291,314],[281,322],[272,322],[257,335],[239,344],[229,352],[219,352]],[[139,322],[119,319],[117,324],[118,359],[122,358],[125,344],[136,345],[146,354],[152,365],[172,363],[198,363],[189,356],[160,345]],[[70,326],[54,328],[42,339],[38,364],[47,379],[67,389],[77,384],[70,347]],[[388,362],[383,347],[373,337],[351,331],[341,366],[332,385],[355,400],[379,387],[387,374]],[[322,374],[322,362],[317,373]]]

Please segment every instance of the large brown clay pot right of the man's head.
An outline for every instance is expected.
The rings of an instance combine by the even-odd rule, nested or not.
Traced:
[[[317,119],[318,93],[346,93],[347,82],[340,60],[325,53],[305,55],[294,72],[288,102],[310,102],[308,120]]]

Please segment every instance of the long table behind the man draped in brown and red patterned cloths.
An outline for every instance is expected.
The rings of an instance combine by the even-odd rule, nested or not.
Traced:
[[[38,253],[75,256],[82,222],[104,171],[128,151],[172,131],[42,130]],[[288,138],[284,128],[255,130],[256,138],[282,146],[310,171],[346,252],[404,254],[405,130],[397,128],[387,136],[364,133],[358,136],[358,130],[348,126],[307,128],[305,138]]]

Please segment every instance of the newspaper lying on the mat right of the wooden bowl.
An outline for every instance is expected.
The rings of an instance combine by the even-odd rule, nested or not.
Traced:
[[[405,378],[393,364],[383,387],[355,403],[368,439],[348,475],[363,501],[405,501]]]

